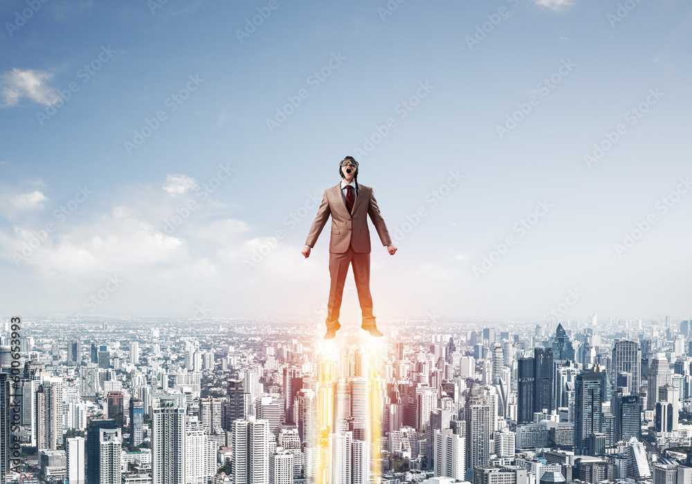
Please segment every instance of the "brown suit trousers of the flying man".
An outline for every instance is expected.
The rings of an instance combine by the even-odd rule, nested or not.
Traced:
[[[329,274],[331,286],[329,288],[329,302],[327,303],[327,329],[340,328],[338,323],[343,297],[346,274],[349,264],[353,268],[353,276],[356,279],[358,290],[358,302],[361,303],[363,313],[363,328],[375,326],[375,317],[372,315],[372,296],[370,295],[370,252],[358,254],[354,252],[352,245],[346,252],[337,254],[329,253]]]

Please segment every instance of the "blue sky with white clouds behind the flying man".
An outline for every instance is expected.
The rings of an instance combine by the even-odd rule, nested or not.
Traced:
[[[692,313],[682,0],[6,0],[0,19],[7,315],[317,321],[328,233],[300,248],[346,155],[399,234],[390,257],[372,232],[376,316]]]

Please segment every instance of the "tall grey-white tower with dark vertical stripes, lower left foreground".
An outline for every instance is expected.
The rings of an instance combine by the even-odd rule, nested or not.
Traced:
[[[154,395],[152,484],[185,484],[184,398],[180,394]]]

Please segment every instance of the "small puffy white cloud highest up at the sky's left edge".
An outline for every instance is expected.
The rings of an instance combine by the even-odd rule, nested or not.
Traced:
[[[53,75],[44,71],[13,68],[0,77],[0,95],[3,97],[3,107],[17,106],[23,97],[33,102],[50,106],[60,97],[54,87],[47,82]]]

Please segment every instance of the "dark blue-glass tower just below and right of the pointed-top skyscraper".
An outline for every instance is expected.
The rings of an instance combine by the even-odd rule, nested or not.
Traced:
[[[588,454],[588,438],[601,432],[601,375],[576,375],[574,399],[574,453]]]

